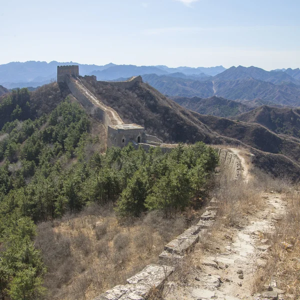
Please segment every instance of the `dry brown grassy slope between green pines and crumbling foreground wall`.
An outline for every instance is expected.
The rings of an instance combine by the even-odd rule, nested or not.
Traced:
[[[159,212],[121,222],[112,207],[93,204],[38,226],[36,246],[48,268],[46,299],[88,299],[157,262],[164,244],[188,227],[184,216]]]

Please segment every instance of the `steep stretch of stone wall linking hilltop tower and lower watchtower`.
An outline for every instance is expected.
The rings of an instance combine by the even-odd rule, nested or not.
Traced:
[[[108,125],[123,124],[123,121],[117,112],[99,101],[80,81],[72,76],[65,76],[64,82],[74,97],[88,111],[104,124],[107,129]]]

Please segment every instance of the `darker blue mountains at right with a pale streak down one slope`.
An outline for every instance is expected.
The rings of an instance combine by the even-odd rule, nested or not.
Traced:
[[[300,106],[299,69],[265,71],[258,67],[230,67],[210,78],[146,74],[144,81],[168,96],[208,98],[213,95],[247,103]],[[251,105],[251,104],[250,104]]]

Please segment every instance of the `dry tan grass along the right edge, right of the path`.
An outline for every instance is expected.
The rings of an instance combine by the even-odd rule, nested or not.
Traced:
[[[282,195],[287,203],[286,214],[275,225],[272,234],[266,234],[270,251],[267,265],[256,275],[255,291],[275,279],[277,286],[285,290],[284,299],[300,298],[300,193],[291,190]]]

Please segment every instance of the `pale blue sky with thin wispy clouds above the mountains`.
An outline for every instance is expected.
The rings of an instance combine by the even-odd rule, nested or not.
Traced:
[[[299,0],[0,3],[0,64],[300,67]]]

